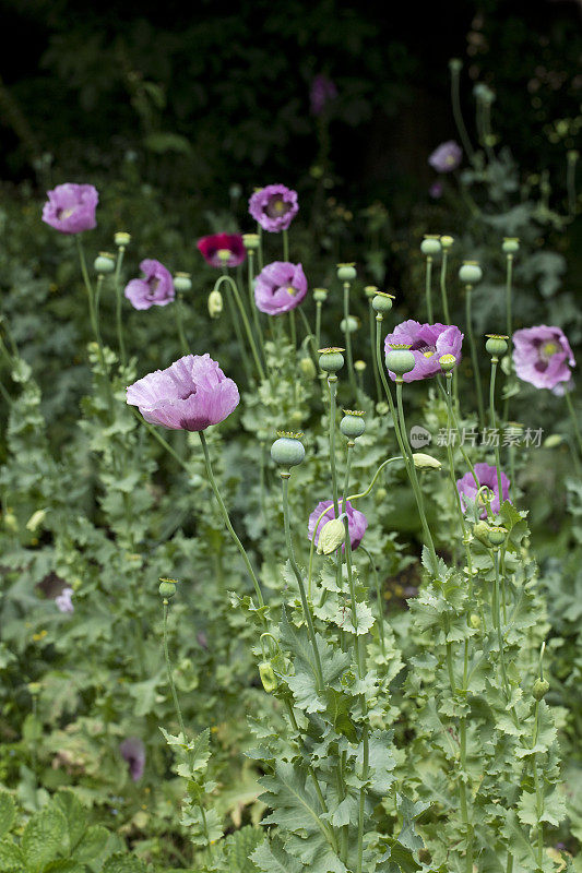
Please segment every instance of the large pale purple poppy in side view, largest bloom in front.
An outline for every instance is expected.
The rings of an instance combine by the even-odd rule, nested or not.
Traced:
[[[224,421],[239,399],[236,384],[210,355],[186,355],[127,390],[130,406],[151,424],[169,430],[205,430]]]

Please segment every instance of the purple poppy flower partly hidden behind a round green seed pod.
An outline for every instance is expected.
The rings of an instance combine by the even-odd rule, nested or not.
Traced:
[[[418,379],[428,379],[441,372],[439,358],[443,355],[454,355],[456,362],[461,360],[463,336],[454,324],[419,324],[408,319],[397,324],[384,340],[384,354],[390,351],[391,345],[404,344],[411,347],[415,358],[414,370],[404,373],[405,382],[416,382]],[[390,378],[395,379],[390,372]]]

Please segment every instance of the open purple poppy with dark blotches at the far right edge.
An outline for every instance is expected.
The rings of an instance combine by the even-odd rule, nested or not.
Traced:
[[[513,363],[524,382],[536,388],[555,388],[560,382],[570,381],[570,367],[575,367],[575,359],[563,331],[539,324],[515,331]]]

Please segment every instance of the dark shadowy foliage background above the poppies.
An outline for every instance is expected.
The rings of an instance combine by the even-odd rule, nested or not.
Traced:
[[[518,163],[563,172],[575,146],[572,130],[556,144],[548,128],[579,111],[580,2],[4,0],[0,10],[4,180],[117,178],[129,163],[169,198],[228,207],[234,184],[247,194],[280,180],[305,193],[324,169],[343,199],[390,198],[404,217],[435,178],[428,153],[456,136],[455,56],[465,99],[477,80],[495,89],[494,119]],[[318,73],[338,92],[319,121]]]

